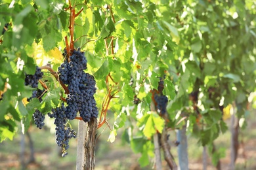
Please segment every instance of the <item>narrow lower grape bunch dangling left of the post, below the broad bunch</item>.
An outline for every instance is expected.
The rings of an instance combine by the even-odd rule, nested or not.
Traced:
[[[69,139],[76,137],[76,132],[74,129],[66,127],[66,123],[68,121],[65,114],[66,110],[67,109],[64,106],[64,103],[62,103],[60,107],[52,110],[53,113],[48,113],[50,118],[55,118],[54,124],[56,126],[56,144],[62,147],[62,156],[66,156],[68,154],[67,150],[69,148]]]

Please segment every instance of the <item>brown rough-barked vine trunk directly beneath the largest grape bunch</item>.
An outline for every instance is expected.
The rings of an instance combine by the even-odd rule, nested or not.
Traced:
[[[91,118],[91,121],[87,123],[87,132],[85,135],[85,154],[83,161],[83,169],[91,170],[95,169],[95,144],[96,144],[96,131],[97,131],[97,119]]]

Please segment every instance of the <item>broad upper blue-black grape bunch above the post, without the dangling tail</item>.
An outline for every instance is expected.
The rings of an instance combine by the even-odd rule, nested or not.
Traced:
[[[66,55],[64,50],[63,56]],[[96,92],[95,79],[92,75],[85,73],[87,69],[87,59],[80,50],[74,50],[73,55],[65,58],[64,63],[58,67],[60,80],[68,85],[69,94],[67,96],[66,116],[73,120],[77,112],[85,122],[89,122],[92,117],[98,116],[98,109],[94,94]]]

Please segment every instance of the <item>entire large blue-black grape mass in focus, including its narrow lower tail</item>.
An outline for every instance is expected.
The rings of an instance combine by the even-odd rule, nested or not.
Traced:
[[[66,127],[68,120],[73,120],[79,112],[83,121],[89,122],[92,117],[98,116],[98,109],[94,94],[95,78],[88,73],[87,59],[84,53],[79,49],[74,50],[72,56],[68,58],[66,50],[63,53],[64,62],[58,67],[60,80],[68,85],[68,95],[66,95],[66,104],[62,103],[60,107],[52,110],[49,113],[50,118],[55,118],[56,126],[56,144],[62,147],[62,156],[68,154],[68,142],[72,137],[76,137],[74,129]]]

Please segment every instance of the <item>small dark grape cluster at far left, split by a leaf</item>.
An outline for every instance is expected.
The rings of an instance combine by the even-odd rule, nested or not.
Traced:
[[[32,88],[38,87],[38,81],[43,77],[43,72],[41,72],[41,69],[36,66],[35,74],[34,75],[25,75],[25,86],[31,86]],[[32,92],[32,97],[28,98],[27,101],[30,101],[32,98],[35,97],[41,97],[43,92],[41,90],[37,89]],[[40,100],[40,99],[39,99]]]

